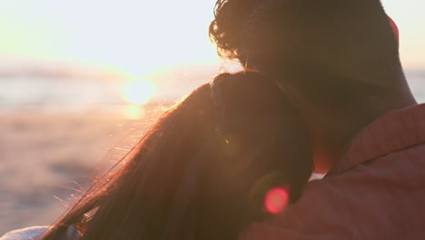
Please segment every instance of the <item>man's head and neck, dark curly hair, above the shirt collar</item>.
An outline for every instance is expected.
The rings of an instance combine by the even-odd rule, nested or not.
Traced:
[[[276,81],[311,128],[319,168],[364,125],[415,104],[380,0],[218,0],[214,14],[219,54]]]

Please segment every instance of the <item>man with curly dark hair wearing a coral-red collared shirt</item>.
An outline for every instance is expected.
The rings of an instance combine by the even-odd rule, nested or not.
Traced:
[[[219,53],[276,81],[313,136],[300,201],[241,239],[425,239],[425,105],[379,0],[219,0]]]

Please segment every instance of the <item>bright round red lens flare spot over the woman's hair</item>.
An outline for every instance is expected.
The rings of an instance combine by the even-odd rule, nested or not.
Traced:
[[[277,215],[285,210],[288,202],[288,191],[280,187],[272,188],[264,198],[266,210],[273,215]]]

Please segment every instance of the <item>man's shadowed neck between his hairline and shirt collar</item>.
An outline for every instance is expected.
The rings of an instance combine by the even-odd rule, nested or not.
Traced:
[[[376,118],[390,111],[416,105],[409,88],[398,94],[382,92],[360,103],[358,109],[332,111],[311,105],[302,111],[307,125],[311,128],[315,172],[325,174],[347,150],[352,137]]]

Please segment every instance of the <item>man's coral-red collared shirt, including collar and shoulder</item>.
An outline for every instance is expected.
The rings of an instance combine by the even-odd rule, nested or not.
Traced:
[[[425,239],[425,105],[366,126],[297,204],[241,239]]]

